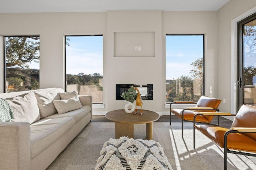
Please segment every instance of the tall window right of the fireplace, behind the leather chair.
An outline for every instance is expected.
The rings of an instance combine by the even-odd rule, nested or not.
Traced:
[[[166,103],[204,94],[204,35],[166,35]]]

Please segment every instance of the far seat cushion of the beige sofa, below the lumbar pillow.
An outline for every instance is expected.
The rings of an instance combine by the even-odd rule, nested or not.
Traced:
[[[60,117],[69,117],[69,116],[71,116],[71,117],[74,117],[75,123],[76,123],[80,119],[82,119],[82,117],[84,117],[85,115],[90,113],[90,111],[91,111],[91,107],[90,106],[83,106],[80,109],[69,111],[67,113],[63,113],[63,114],[55,113],[53,115],[45,117],[44,119],[56,119],[56,118],[60,118]]]

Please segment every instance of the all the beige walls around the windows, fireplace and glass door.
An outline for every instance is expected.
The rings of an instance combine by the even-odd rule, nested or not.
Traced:
[[[123,108],[126,101],[115,100],[115,84],[134,83],[154,84],[154,100],[143,101],[143,108],[166,114],[165,36],[204,34],[205,95],[226,98],[227,104],[222,103],[220,108],[230,111],[231,20],[254,6],[255,0],[231,0],[217,12],[110,10],[0,14],[0,61],[3,61],[3,35],[40,35],[40,88],[64,88],[64,35],[103,34],[105,108],[94,108],[94,113]],[[155,57],[114,57],[115,32],[154,32]],[[126,68],[124,63],[131,66]],[[0,62],[0,72],[3,68]],[[0,74],[0,92],[3,92],[3,74]]]

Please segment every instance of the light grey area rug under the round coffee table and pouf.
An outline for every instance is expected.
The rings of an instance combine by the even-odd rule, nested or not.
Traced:
[[[153,123],[153,140],[159,142],[174,170],[223,170],[223,149],[196,131],[193,149],[193,123]],[[90,122],[47,170],[94,170],[106,141],[115,138],[115,123]],[[146,140],[146,125],[134,125],[134,139]],[[228,170],[256,170],[243,155],[228,153]]]

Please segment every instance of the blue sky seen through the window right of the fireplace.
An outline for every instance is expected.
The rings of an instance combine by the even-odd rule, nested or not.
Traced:
[[[203,35],[166,35],[166,79],[190,76],[190,64],[203,57]]]

